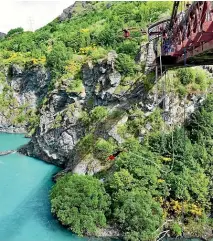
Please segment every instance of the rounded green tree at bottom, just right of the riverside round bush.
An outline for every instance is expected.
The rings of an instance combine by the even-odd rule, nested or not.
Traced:
[[[125,240],[154,240],[162,224],[162,209],[149,192],[120,191],[114,199],[113,217]]]

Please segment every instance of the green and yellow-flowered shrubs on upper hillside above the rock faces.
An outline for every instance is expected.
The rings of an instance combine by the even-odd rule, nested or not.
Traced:
[[[131,40],[126,41],[122,36],[122,29],[127,26],[138,29],[145,27],[150,21],[156,21],[165,13],[169,14],[171,7],[172,2],[95,2],[89,3],[86,8],[83,8],[81,3],[76,3],[72,18],[66,21],[55,19],[35,32],[24,32],[21,27],[11,29],[6,37],[0,40],[0,62],[7,67],[17,64],[26,70],[37,66],[46,67],[52,75],[49,91],[63,88],[67,92],[83,93],[83,64],[89,60],[97,62],[105,58],[110,50],[116,50],[118,53],[115,67],[121,71],[123,77],[138,72],[134,58],[141,42],[146,39],[141,36],[140,31],[136,31],[131,33]],[[151,8],[156,10],[152,19]],[[122,94],[126,90],[128,86],[118,86],[116,93]],[[5,97],[4,94],[4,102]],[[8,97],[7,95],[6,98]],[[17,111],[16,107],[19,108],[19,104],[12,103],[15,100],[10,97],[9,104],[14,107],[11,108],[14,110],[11,116],[16,118],[12,120],[11,117],[11,122],[28,124],[31,119],[29,131],[33,133],[39,117],[28,117],[28,108],[21,107],[21,111]],[[40,103],[39,107],[44,104]],[[1,105],[7,112],[8,103]],[[94,99],[88,100],[87,105],[92,109],[95,105]],[[34,111],[35,114],[38,115],[38,112]],[[6,116],[8,115],[9,112],[6,113]],[[92,114],[91,118],[96,118],[95,115]],[[59,120],[56,122],[54,126],[60,125]]]

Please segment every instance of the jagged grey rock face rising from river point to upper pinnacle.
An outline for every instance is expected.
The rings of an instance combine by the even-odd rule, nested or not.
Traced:
[[[29,145],[21,150],[23,153],[71,169],[77,165],[74,147],[85,135],[80,121],[82,109],[90,102],[92,106],[119,103],[113,94],[121,81],[121,75],[114,69],[116,56],[110,52],[107,60],[83,66],[83,93],[54,90],[49,94],[48,103],[40,109],[39,127]]]

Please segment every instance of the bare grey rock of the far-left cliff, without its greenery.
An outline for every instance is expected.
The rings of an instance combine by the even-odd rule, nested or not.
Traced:
[[[6,84],[10,89],[7,95],[11,95],[11,102],[15,102],[15,107],[8,106],[7,115],[4,111],[0,112],[0,132],[26,133],[25,124],[13,124],[12,119],[16,117],[14,108],[18,109],[24,105],[28,106],[28,110],[36,108],[47,93],[49,72],[42,67],[25,70],[18,65],[11,65],[4,70],[4,74],[6,78],[5,82],[0,82],[0,94],[3,93]]]

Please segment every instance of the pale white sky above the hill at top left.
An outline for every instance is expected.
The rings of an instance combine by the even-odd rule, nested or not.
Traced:
[[[73,3],[74,0],[0,0],[0,32],[7,33],[17,27],[35,31],[55,19]]]

